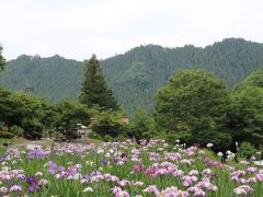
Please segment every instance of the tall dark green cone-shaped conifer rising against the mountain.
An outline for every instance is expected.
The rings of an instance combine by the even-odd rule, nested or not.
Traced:
[[[80,102],[92,107],[94,105],[103,109],[116,109],[117,103],[112,91],[106,86],[100,62],[95,55],[85,62],[84,81],[81,88]]]

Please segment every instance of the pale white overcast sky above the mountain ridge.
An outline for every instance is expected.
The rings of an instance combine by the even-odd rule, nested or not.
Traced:
[[[0,0],[5,59],[55,54],[105,59],[156,44],[263,43],[262,0]]]

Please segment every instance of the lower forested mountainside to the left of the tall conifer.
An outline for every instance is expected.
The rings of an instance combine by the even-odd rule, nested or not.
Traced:
[[[8,61],[0,76],[0,86],[24,91],[27,85],[35,94],[57,102],[64,97],[77,99],[82,79],[82,62],[58,55],[49,58],[22,55]]]

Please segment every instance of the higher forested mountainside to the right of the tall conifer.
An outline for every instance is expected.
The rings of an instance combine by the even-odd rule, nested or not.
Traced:
[[[263,65],[263,44],[228,38],[205,48],[140,46],[102,62],[106,80],[119,102],[134,112],[151,109],[153,93],[178,70],[204,69],[235,85]]]

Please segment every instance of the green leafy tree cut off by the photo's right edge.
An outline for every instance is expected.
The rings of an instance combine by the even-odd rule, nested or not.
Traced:
[[[263,144],[263,68],[236,86],[228,117],[235,141]]]

